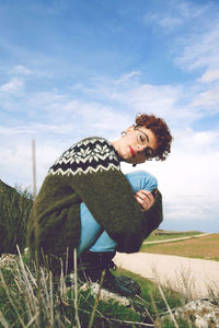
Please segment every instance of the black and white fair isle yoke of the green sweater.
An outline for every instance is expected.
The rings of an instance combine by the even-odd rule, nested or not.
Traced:
[[[120,171],[114,147],[103,138],[90,138],[66,151],[50,167],[48,174],[77,175],[110,169]]]

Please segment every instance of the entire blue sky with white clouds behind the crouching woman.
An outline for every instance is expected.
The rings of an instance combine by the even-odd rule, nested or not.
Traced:
[[[0,178],[31,188],[35,139],[39,189],[72,143],[153,113],[173,150],[135,169],[158,177],[161,227],[219,232],[218,54],[218,1],[0,0]]]

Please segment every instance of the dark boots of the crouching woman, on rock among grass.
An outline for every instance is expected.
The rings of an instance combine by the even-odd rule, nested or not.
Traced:
[[[115,251],[94,253],[87,251],[78,259],[78,278],[82,282],[101,281],[102,272],[105,271],[102,288],[122,296],[140,295],[140,286],[132,279],[125,276],[114,276],[111,270],[116,269],[113,262]]]

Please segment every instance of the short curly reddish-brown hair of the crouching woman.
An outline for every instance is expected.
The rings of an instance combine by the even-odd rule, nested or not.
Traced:
[[[155,134],[157,150],[154,157],[158,161],[165,161],[171,152],[173,137],[163,118],[155,117],[154,115],[138,114],[136,116],[136,126],[143,126]]]

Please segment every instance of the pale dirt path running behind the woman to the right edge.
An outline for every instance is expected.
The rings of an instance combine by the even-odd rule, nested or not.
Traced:
[[[217,261],[148,253],[117,253],[115,263],[193,298],[207,297],[209,288],[219,294]]]

